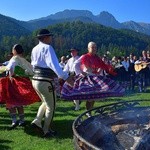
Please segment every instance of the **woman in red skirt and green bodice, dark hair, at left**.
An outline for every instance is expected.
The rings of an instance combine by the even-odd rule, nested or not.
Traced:
[[[8,71],[9,75],[0,79],[0,103],[5,103],[12,118],[10,129],[24,126],[24,105],[39,101],[39,97],[32,87],[29,76],[33,75],[31,64],[22,57],[23,48],[16,44],[12,48],[13,57],[7,66],[0,68],[0,72]],[[19,121],[17,121],[17,111]]]

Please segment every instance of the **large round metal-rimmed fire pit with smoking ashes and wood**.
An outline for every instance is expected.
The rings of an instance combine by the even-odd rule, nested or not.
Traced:
[[[81,114],[73,123],[76,150],[149,150],[150,101],[118,102]]]

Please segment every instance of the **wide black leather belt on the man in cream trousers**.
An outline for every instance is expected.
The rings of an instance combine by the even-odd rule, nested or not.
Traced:
[[[34,77],[54,78],[56,74],[52,69],[36,66],[34,68]]]

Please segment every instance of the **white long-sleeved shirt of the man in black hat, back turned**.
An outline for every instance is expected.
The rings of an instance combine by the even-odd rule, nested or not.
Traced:
[[[39,42],[39,44],[32,49],[31,65],[33,68],[35,66],[50,68],[59,78],[64,80],[68,78],[68,74],[61,69],[56,53],[51,45]]]

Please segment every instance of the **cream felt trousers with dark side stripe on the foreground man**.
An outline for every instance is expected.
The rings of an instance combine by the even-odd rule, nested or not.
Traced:
[[[33,78],[47,80],[47,78],[43,77]],[[55,93],[53,93],[52,86],[49,82],[32,80],[32,85],[42,101],[42,104],[38,109],[37,116],[32,121],[32,123],[35,123],[37,126],[42,127],[41,122],[44,117],[43,131],[44,133],[47,133],[49,131],[50,124],[54,116],[56,99]]]

